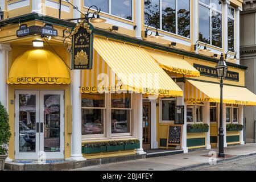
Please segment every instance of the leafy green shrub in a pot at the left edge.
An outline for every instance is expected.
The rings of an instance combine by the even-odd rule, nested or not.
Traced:
[[[9,115],[0,102],[0,171],[5,168],[10,137]]]

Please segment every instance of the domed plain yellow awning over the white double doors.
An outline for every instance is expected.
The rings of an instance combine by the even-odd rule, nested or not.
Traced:
[[[16,57],[7,84],[70,84],[69,69],[51,51],[32,49]]]

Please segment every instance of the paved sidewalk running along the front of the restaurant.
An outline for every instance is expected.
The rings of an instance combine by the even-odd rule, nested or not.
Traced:
[[[211,150],[193,151],[187,154],[176,154],[170,156],[161,156],[157,158],[146,158],[138,160],[130,160],[127,162],[118,162],[103,164],[100,166],[90,166],[84,168],[74,169],[76,171],[168,171],[168,170],[182,170],[192,167],[209,165],[209,152],[216,152],[218,148]],[[225,154],[230,155],[230,158],[217,158],[217,163],[224,162],[248,155],[256,155],[256,144],[248,143],[243,146],[230,146],[225,148]],[[212,154],[210,154],[212,156]]]

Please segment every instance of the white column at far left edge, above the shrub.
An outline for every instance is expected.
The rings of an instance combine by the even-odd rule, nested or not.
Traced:
[[[0,44],[0,102],[7,108],[7,54],[10,46]]]

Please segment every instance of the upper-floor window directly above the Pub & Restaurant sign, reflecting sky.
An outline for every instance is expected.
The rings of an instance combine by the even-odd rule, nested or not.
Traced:
[[[199,40],[212,46],[222,47],[221,1],[199,1]]]

